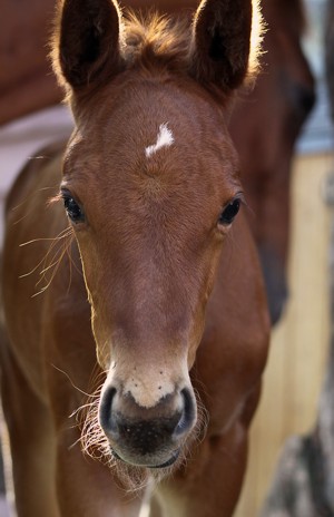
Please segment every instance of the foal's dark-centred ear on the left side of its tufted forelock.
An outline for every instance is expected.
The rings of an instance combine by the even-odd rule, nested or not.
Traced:
[[[75,90],[101,84],[120,69],[120,11],[114,0],[63,0],[53,43],[60,80]]]

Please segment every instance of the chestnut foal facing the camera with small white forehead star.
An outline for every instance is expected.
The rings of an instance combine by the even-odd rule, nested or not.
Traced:
[[[250,27],[250,0],[204,0],[190,30],[122,19],[110,0],[60,7],[53,59],[75,130],[7,204],[19,517],[137,516],[144,485],[155,515],[235,508],[268,343],[226,130]],[[82,428],[70,417],[96,386]]]

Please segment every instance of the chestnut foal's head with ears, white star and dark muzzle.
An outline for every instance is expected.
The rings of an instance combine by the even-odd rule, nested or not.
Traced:
[[[242,203],[226,130],[249,75],[250,0],[206,0],[193,27],[65,0],[56,67],[76,129],[61,195],[80,248],[99,420],[124,461],[167,467],[197,419],[189,370]]]

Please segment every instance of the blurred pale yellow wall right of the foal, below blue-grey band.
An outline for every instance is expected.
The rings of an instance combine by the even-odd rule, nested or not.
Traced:
[[[272,336],[236,517],[258,516],[286,438],[307,433],[315,423],[330,343],[328,242],[333,208],[326,205],[324,192],[331,170],[334,170],[331,153],[295,159],[289,301]]]

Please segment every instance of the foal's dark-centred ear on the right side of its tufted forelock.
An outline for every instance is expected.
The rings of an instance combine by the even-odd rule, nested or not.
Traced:
[[[252,0],[203,0],[193,26],[193,74],[226,92],[247,75]]]

